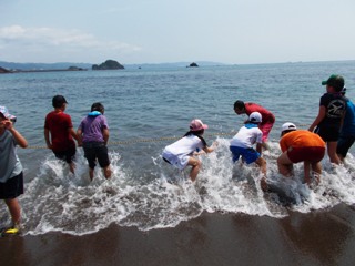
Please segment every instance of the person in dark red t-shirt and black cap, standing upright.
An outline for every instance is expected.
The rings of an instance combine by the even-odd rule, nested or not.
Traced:
[[[48,149],[51,149],[55,157],[69,164],[70,172],[74,173],[75,142],[78,136],[73,130],[73,124],[69,114],[65,114],[67,100],[62,95],[52,99],[54,111],[45,116],[44,139]]]

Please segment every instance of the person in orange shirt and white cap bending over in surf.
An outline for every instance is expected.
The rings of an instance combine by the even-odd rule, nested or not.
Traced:
[[[313,132],[297,130],[293,123],[284,123],[281,129],[280,147],[283,154],[277,158],[278,172],[292,176],[293,164],[303,162],[304,181],[311,185],[310,168],[314,172],[316,182],[322,174],[321,161],[325,155],[325,142]]]

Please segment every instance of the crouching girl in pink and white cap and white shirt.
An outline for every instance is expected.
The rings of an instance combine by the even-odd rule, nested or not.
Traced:
[[[201,170],[201,161],[194,157],[194,152],[201,150],[205,153],[211,153],[217,145],[216,142],[212,146],[207,146],[205,140],[202,137],[204,130],[209,129],[201,120],[193,120],[190,123],[190,131],[179,141],[165,146],[163,151],[163,160],[179,170],[184,170],[187,165],[192,166],[190,172],[191,181],[195,181]]]

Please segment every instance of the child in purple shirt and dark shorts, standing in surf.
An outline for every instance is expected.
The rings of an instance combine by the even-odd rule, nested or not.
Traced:
[[[91,112],[84,117],[77,131],[79,146],[83,146],[89,163],[89,176],[92,181],[95,161],[103,168],[104,177],[111,177],[108,141],[110,136],[109,124],[103,115],[104,108],[100,102],[91,105]]]

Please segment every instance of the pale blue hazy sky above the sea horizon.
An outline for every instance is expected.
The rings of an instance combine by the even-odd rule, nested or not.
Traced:
[[[354,0],[0,0],[0,61],[355,60]]]

